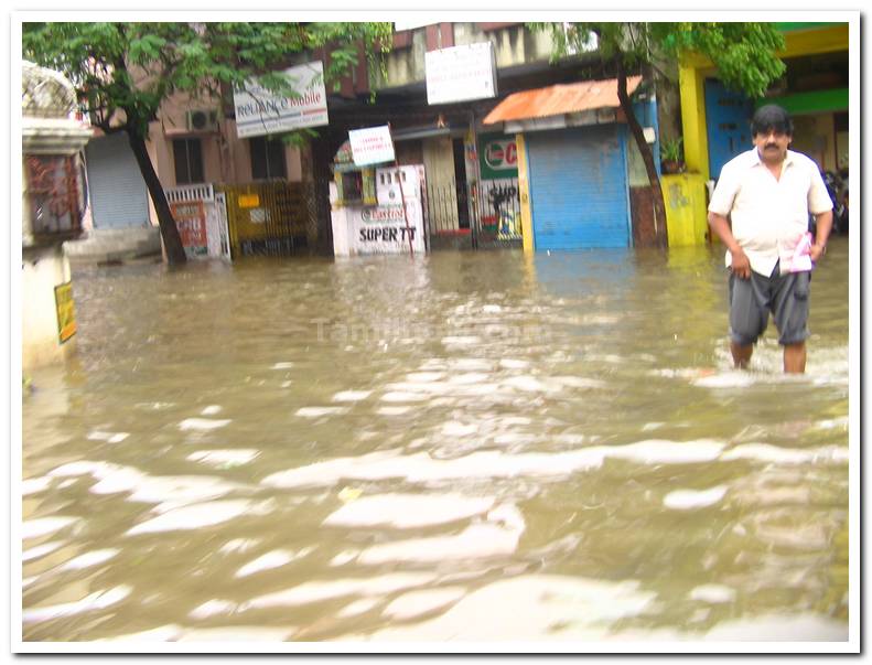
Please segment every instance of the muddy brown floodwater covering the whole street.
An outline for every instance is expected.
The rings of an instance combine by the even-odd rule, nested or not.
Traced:
[[[22,406],[25,641],[848,639],[847,238],[799,377],[772,323],[732,369],[719,248],[74,296]]]

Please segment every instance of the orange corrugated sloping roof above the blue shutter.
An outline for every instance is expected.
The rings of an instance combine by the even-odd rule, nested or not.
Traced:
[[[632,95],[642,83],[642,76],[627,77],[627,94]],[[616,108],[617,78],[583,81],[547,88],[514,93],[500,101],[484,119],[485,125],[508,120],[528,120],[548,116],[577,114],[596,108]]]

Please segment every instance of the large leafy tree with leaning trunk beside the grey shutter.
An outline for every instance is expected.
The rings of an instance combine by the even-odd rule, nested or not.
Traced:
[[[79,104],[104,132],[123,131],[158,213],[170,264],[185,254],[146,141],[149,124],[176,93],[216,104],[247,79],[291,95],[277,71],[293,56],[323,49],[327,85],[358,61],[370,65],[388,49],[390,23],[24,23],[23,56],[63,73]],[[299,132],[297,138],[311,136]]]

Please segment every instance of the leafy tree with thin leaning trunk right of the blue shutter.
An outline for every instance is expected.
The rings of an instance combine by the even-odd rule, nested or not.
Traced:
[[[773,23],[531,23],[530,28],[550,31],[553,61],[571,52],[582,52],[590,35],[596,35],[603,64],[617,76],[621,109],[645,162],[654,214],[661,228],[666,227],[666,206],[660,180],[627,95],[627,72],[658,72],[666,76],[658,67],[663,58],[698,53],[712,62],[728,88],[749,97],[762,97],[785,71],[776,55],[784,50],[784,37]]]

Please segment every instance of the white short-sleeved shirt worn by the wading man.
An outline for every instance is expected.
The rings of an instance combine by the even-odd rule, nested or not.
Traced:
[[[709,212],[730,215],[733,237],[751,262],[751,269],[768,277],[781,258],[786,272],[803,234],[808,214],[832,210],[832,201],[818,165],[800,152],[787,151],[781,180],[760,159],[757,149],[733,158],[709,203]],[[726,266],[732,258],[726,251]]]

